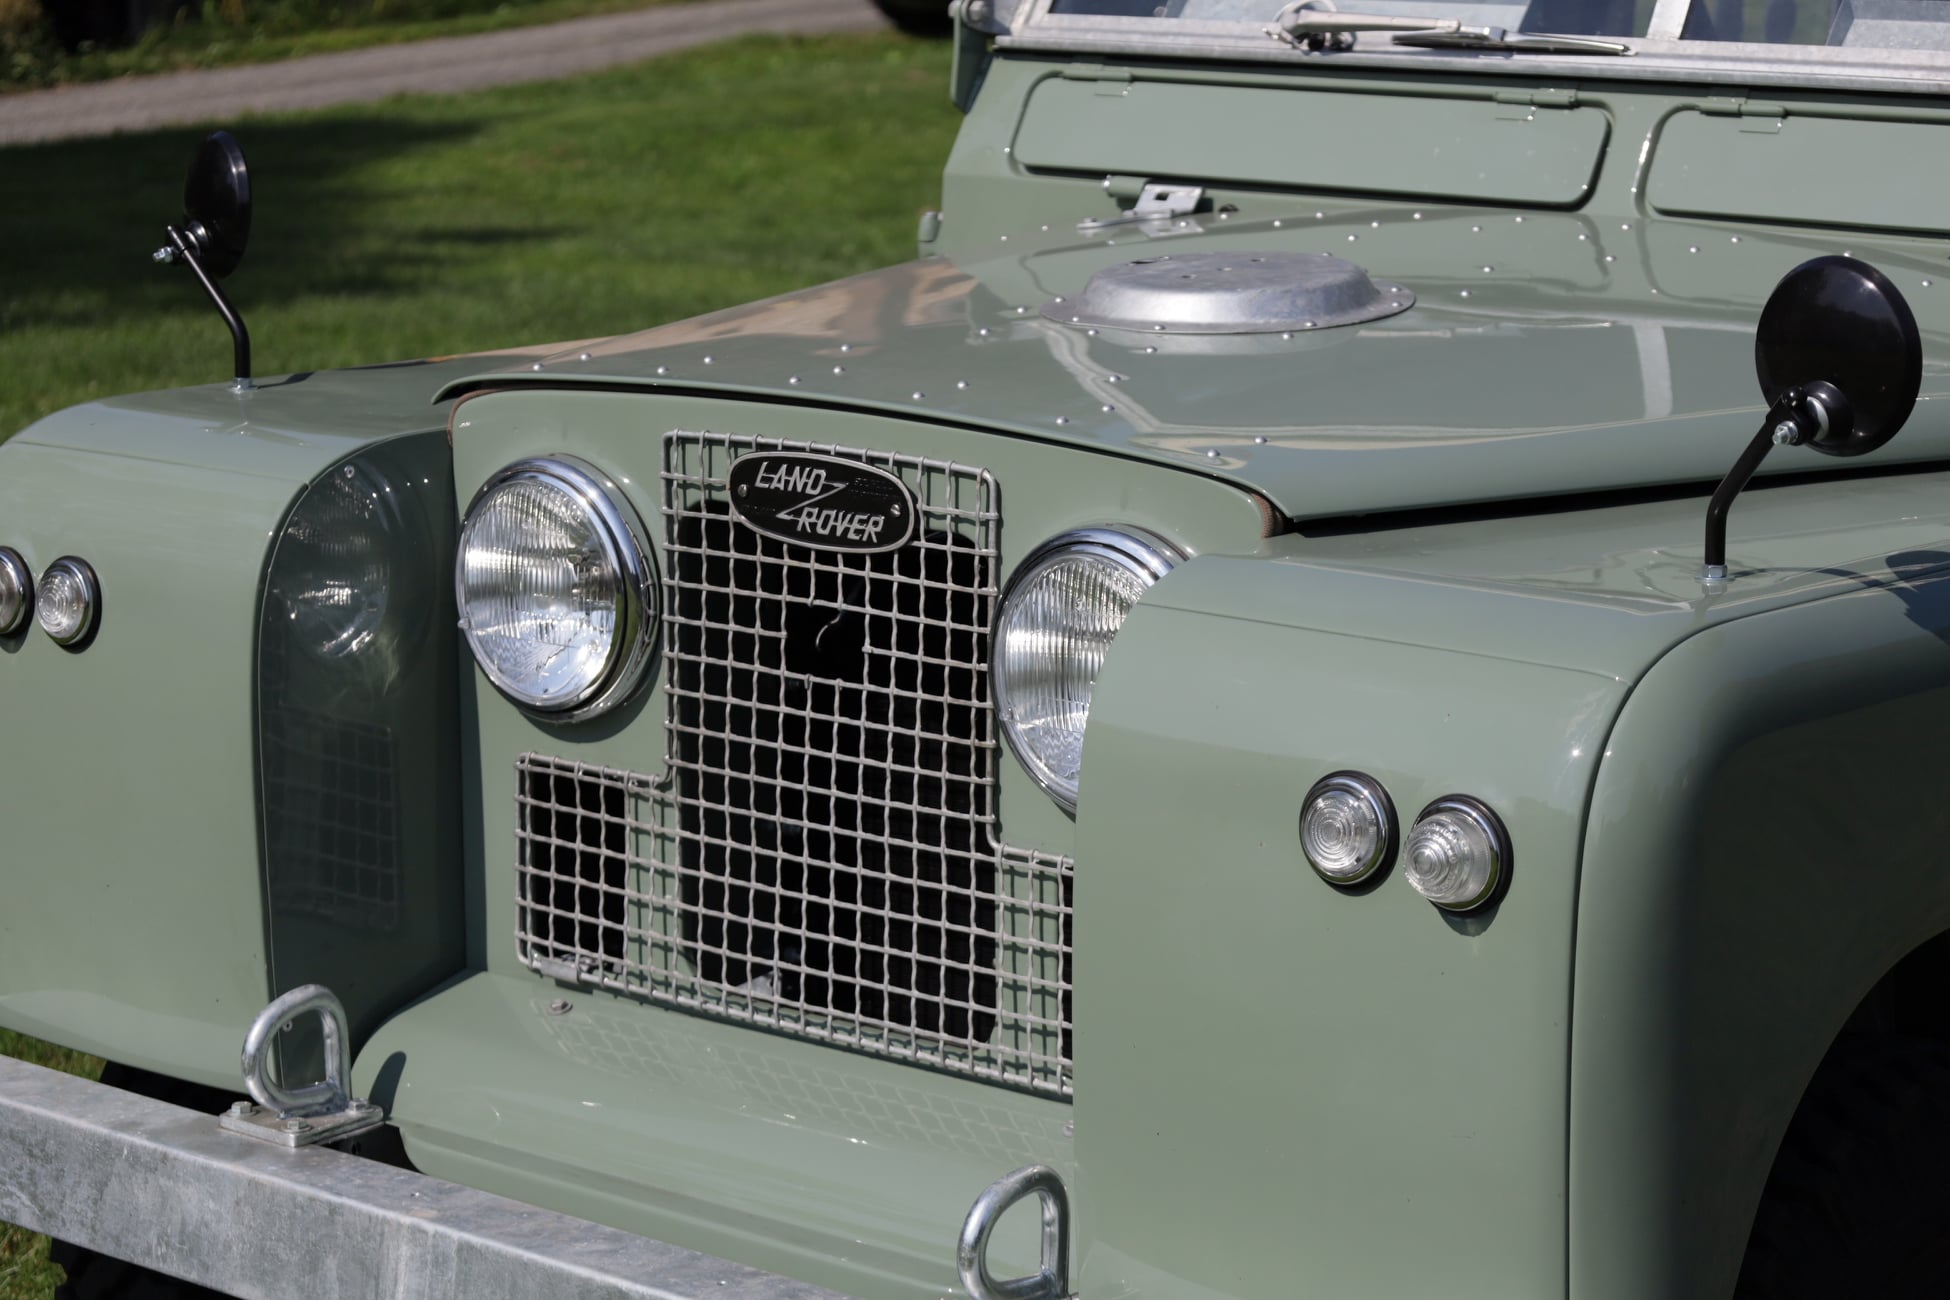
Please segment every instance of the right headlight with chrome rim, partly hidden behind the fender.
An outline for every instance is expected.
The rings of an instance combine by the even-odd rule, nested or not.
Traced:
[[[1030,776],[1076,809],[1090,692],[1112,637],[1182,555],[1112,528],[1065,532],[1016,569],[994,628],[994,707]]]

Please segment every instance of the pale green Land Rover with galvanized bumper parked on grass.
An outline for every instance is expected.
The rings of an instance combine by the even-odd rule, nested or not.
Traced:
[[[1359,10],[965,0],[915,261],[0,448],[0,1023],[254,1097],[0,1066],[0,1206],[289,1296],[1942,1294],[1944,14]]]

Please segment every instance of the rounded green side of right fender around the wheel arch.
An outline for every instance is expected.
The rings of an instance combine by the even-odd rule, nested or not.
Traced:
[[[1814,1064],[1950,928],[1950,546],[1888,565],[1687,639],[1607,743],[1572,1012],[1576,1296],[1728,1294]]]

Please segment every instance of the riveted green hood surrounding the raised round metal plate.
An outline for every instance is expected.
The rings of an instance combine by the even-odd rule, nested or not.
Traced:
[[[1203,230],[1197,230],[1203,224]],[[1416,306],[1291,337],[1086,333],[1039,308],[1102,267],[1188,251],[1326,251]],[[1833,236],[1679,220],[1400,207],[1170,236],[1018,232],[987,259],[928,257],[450,384],[739,390],[1141,456],[1227,478],[1295,518],[1718,479],[1763,401],[1753,324]],[[1923,401],[1851,466],[1950,456],[1950,288],[1917,242],[1851,251],[1909,296]],[[649,431],[661,433],[661,431]],[[1810,450],[1771,474],[1835,470]]]

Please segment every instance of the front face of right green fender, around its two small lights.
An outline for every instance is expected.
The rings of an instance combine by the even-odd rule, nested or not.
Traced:
[[[1578,850],[1624,682],[1281,614],[1400,596],[1201,557],[1117,635],[1078,817],[1086,1296],[1562,1294]],[[1502,904],[1318,879],[1297,819],[1338,768],[1404,822],[1486,799]]]

